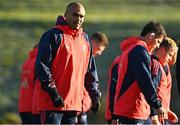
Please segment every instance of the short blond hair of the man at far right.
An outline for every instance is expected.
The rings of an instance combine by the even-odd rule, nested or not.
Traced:
[[[173,49],[176,47],[177,47],[177,44],[173,39],[169,37],[165,37],[162,43],[160,44],[159,48],[165,48],[166,51],[169,51],[170,49]]]

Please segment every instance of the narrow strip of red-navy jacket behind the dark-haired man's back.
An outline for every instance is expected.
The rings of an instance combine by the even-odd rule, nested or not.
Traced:
[[[114,98],[115,98],[115,91],[116,91],[116,85],[118,79],[118,64],[120,62],[120,59],[121,56],[116,57],[109,68],[108,90],[106,97],[106,112],[105,112],[106,121],[112,120],[112,116],[113,116]]]

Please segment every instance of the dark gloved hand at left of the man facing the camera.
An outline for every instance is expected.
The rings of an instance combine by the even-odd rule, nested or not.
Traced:
[[[51,101],[57,108],[60,106],[64,107],[64,100],[60,95],[51,96]]]

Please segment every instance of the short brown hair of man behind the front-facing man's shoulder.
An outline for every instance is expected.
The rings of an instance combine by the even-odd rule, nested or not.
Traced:
[[[90,38],[91,38],[91,40],[95,40],[95,42],[100,43],[106,47],[109,44],[106,34],[102,33],[102,32],[95,32],[91,35]]]

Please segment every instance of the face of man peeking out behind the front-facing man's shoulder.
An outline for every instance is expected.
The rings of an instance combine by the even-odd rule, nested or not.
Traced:
[[[101,55],[102,52],[105,50],[106,46],[101,43],[96,43],[95,41],[92,41],[93,43],[93,56]]]

